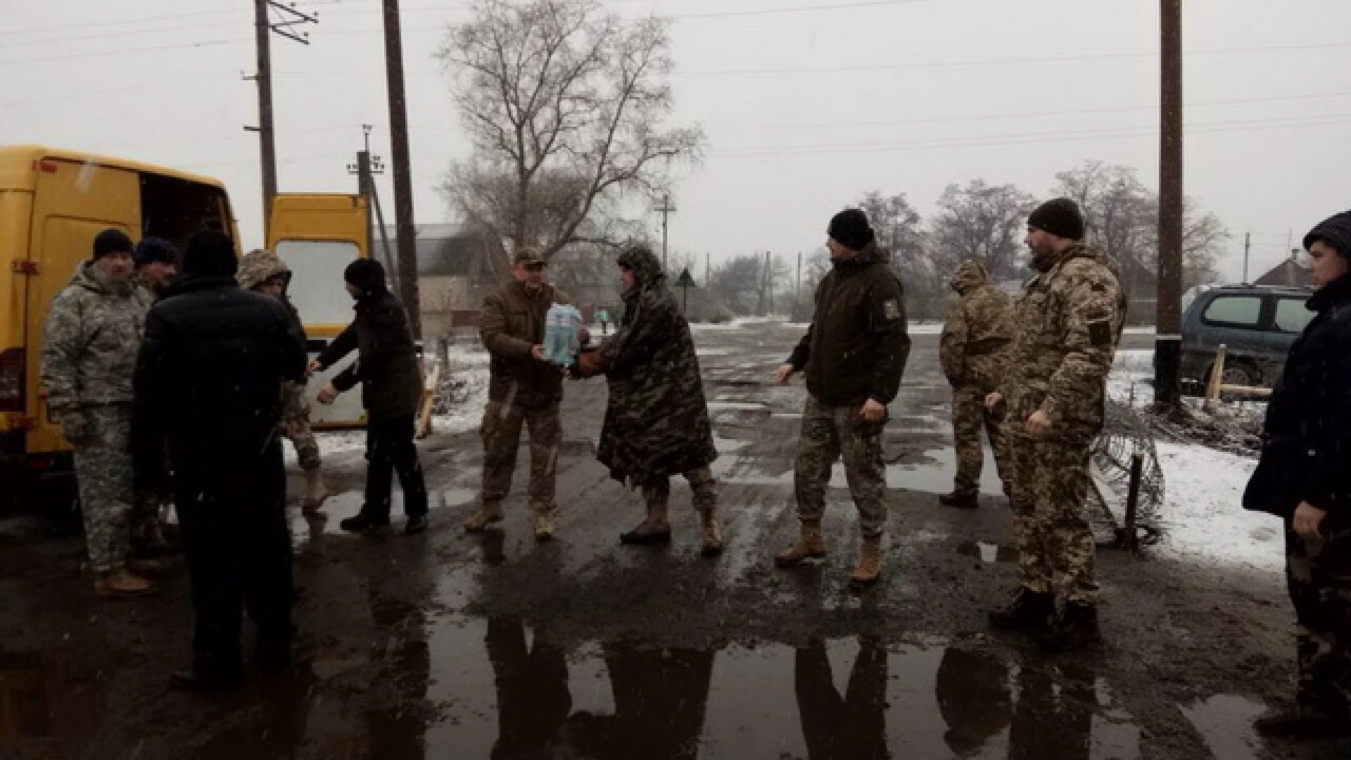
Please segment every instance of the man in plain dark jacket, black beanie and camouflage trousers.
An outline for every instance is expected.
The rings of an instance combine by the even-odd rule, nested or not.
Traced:
[[[862,590],[882,572],[882,430],[886,406],[901,385],[911,339],[901,281],[878,257],[867,216],[847,208],[831,219],[827,233],[834,269],[816,288],[812,326],[775,375],[784,384],[805,369],[808,392],[793,468],[802,533],[775,557],[775,564],[786,568],[825,554],[825,487],[835,460],[843,454],[863,538],[850,584]]]

